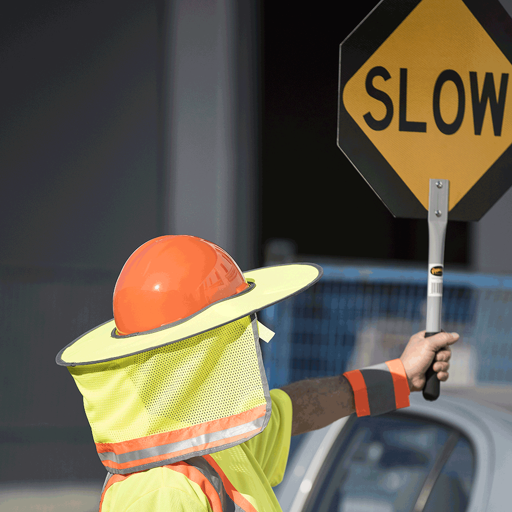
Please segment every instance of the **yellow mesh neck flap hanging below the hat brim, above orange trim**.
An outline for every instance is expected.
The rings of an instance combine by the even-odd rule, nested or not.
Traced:
[[[263,428],[270,417],[254,314],[181,342],[68,370],[96,443],[172,432],[259,406],[267,409]]]

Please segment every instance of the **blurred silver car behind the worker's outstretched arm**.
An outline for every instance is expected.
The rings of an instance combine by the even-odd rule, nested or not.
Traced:
[[[412,393],[408,408],[304,434],[274,488],[283,512],[510,510],[512,388],[495,394],[442,386],[436,401]]]

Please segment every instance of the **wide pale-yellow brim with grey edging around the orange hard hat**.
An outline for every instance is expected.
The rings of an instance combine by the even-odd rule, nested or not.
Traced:
[[[179,342],[258,312],[306,290],[322,277],[314,263],[291,263],[244,272],[250,287],[194,315],[151,331],[119,336],[114,319],[82,334],[56,356],[60,366],[111,361]]]

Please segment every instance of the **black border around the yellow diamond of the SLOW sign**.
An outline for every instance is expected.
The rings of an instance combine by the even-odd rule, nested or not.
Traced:
[[[393,217],[426,219],[419,202],[343,104],[346,83],[422,0],[381,0],[339,45],[337,145]],[[512,19],[498,0],[461,0],[512,63]],[[343,62],[343,66],[342,66]],[[508,87],[512,87],[509,80]],[[442,176],[433,176],[442,178]],[[428,183],[425,184],[425,187]],[[450,210],[449,219],[478,221],[512,186],[512,145]]]

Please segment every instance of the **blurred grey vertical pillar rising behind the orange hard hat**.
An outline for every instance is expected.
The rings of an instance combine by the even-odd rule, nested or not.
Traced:
[[[257,262],[255,0],[168,6],[166,232],[194,234]]]

